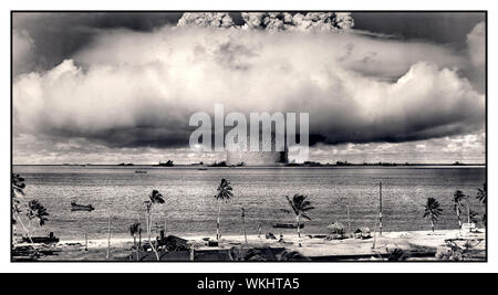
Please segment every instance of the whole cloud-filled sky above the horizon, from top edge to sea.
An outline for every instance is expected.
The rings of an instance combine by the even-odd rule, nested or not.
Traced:
[[[195,112],[308,112],[310,159],[485,161],[483,13],[14,13],[14,164],[177,164]],[[299,159],[297,159],[299,160]]]

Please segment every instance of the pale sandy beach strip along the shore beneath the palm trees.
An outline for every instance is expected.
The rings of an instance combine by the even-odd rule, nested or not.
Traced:
[[[443,254],[450,253],[452,249],[445,242],[448,239],[459,239],[461,249],[465,249],[465,241],[473,242],[473,255],[467,260],[483,261],[486,257],[486,231],[479,229],[477,232],[460,230],[439,230],[439,231],[406,231],[406,232],[384,232],[382,236],[378,233],[370,239],[347,238],[343,240],[328,240],[325,238],[314,238],[314,234],[302,236],[300,247],[297,234],[286,234],[283,241],[266,239],[264,234],[247,235],[247,244],[243,235],[226,235],[219,241],[218,246],[208,246],[207,238],[216,241],[215,236],[183,236],[188,240],[188,244],[194,247],[196,253],[219,252],[225,253],[234,249],[247,251],[248,249],[272,249],[286,250],[287,252],[297,251],[301,255],[312,261],[383,261],[391,257],[393,251],[402,253],[403,261],[414,261],[418,259],[444,260]],[[142,240],[143,242],[146,239]],[[39,245],[46,250],[46,255],[42,254],[39,261],[131,261],[133,249],[133,239],[112,239],[110,246],[110,257],[107,259],[107,239],[89,240],[87,250],[85,250],[84,240],[65,240],[58,244]],[[374,246],[375,243],[375,247]],[[43,251],[42,251],[43,252]],[[144,252],[147,256],[153,256],[153,252]],[[166,252],[167,253],[167,252]],[[188,253],[176,255],[176,253],[163,253],[164,260],[188,261],[191,256]],[[210,261],[217,261],[216,256],[210,256]],[[215,259],[212,259],[215,257]],[[163,259],[162,259],[163,260]],[[133,260],[135,261],[135,260]],[[154,261],[154,260],[152,260]]]

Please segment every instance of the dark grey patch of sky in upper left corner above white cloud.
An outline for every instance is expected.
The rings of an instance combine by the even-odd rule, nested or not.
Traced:
[[[147,32],[168,23],[175,24],[180,15],[181,13],[176,12],[143,12],[139,14],[127,12],[15,12],[12,19],[13,34],[14,36],[24,34],[24,38],[32,42],[29,55],[22,56],[32,61],[29,65],[14,63],[14,75],[54,67],[63,60],[71,59],[101,30],[126,28]]]

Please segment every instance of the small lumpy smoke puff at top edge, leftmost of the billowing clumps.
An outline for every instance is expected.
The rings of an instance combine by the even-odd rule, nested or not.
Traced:
[[[226,12],[186,12],[178,20],[178,27],[185,25],[231,28],[235,23]]]

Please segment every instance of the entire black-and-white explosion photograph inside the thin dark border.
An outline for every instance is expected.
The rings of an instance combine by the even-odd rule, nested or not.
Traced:
[[[486,262],[486,11],[11,12],[11,261]]]

